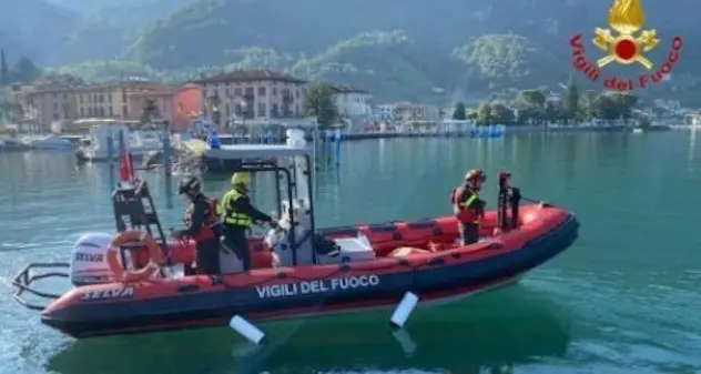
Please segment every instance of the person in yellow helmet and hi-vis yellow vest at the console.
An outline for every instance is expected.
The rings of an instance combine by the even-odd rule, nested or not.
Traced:
[[[248,252],[247,232],[251,225],[253,222],[267,222],[272,228],[277,228],[277,222],[251,203],[251,198],[248,198],[251,173],[234,173],[231,184],[232,189],[224,194],[221,205],[226,232],[224,244],[243,262],[243,270],[248,271],[251,270],[251,252]]]

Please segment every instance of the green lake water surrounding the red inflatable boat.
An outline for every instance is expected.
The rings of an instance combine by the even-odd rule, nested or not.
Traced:
[[[519,284],[415,314],[413,352],[393,336],[388,313],[267,324],[272,344],[257,351],[227,328],[77,342],[42,326],[2,286],[0,373],[701,373],[694,137],[343,144],[338,170],[319,171],[321,225],[447,214],[449,192],[475,166],[490,176],[492,208],[496,173],[506,169],[525,195],[565,205],[581,222],[575,245]],[[112,178],[108,165],[75,168],[70,154],[0,153],[2,275],[31,261],[67,260],[81,232],[112,232]],[[177,225],[181,200],[169,209],[164,176],[146,178],[166,226]],[[205,189],[221,194],[226,181],[207,180]]]

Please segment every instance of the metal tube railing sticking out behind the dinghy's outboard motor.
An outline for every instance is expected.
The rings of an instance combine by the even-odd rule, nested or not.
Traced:
[[[24,294],[28,293],[28,294],[34,295],[37,297],[51,300],[51,301],[61,297],[60,294],[37,290],[37,289],[32,287],[32,283],[34,283],[37,281],[50,279],[50,277],[68,279],[69,277],[69,273],[68,273],[69,267],[70,267],[70,264],[67,263],[67,262],[37,262],[37,263],[31,263],[31,264],[24,266],[24,269],[22,269],[12,279],[11,286],[17,290],[17,291],[14,291],[14,294],[12,295],[12,297],[18,303],[20,303],[21,305],[23,305],[23,306],[26,306],[26,307],[28,307],[30,310],[43,311],[47,307],[47,305],[41,305],[41,304],[29,302],[29,301],[24,300],[24,297],[23,297]],[[35,271],[35,270],[45,270],[47,272],[34,273],[33,271]],[[60,270],[64,270],[64,271],[60,271]]]

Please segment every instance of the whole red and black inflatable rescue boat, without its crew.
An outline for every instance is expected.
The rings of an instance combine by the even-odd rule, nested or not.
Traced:
[[[74,245],[70,264],[29,265],[13,282],[18,301],[43,309],[22,300],[24,292],[52,296],[32,289],[33,280],[45,277],[32,276],[32,269],[69,267],[64,275],[77,287],[55,295],[41,320],[75,337],[219,326],[238,315],[265,321],[390,307],[407,292],[418,295],[420,305],[514,282],[566,250],[578,234],[577,219],[563,209],[520,206],[520,193],[506,186],[506,175],[499,179],[499,208],[486,214],[484,237],[476,244],[455,244],[453,216],[317,231],[309,148],[292,142],[207,152],[231,159],[286,159],[240,165],[274,173],[276,191],[283,191],[277,201],[284,230],[271,230],[250,242],[256,269],[219,276],[173,274],[173,265],[192,263],[194,244],[167,240],[148,184],[139,182],[113,194],[120,234],[87,234]],[[150,234],[156,241],[148,240]],[[126,244],[130,237],[142,240]],[[278,266],[273,265],[273,254]],[[128,282],[114,266],[131,269],[130,274],[139,277]]]

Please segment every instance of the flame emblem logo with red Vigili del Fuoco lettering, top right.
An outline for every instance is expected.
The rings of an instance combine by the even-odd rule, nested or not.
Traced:
[[[656,30],[642,30],[644,24],[644,12],[640,4],[641,0],[614,0],[609,10],[609,29],[596,29],[593,44],[607,54],[590,63],[585,57],[585,46],[582,34],[577,34],[570,39],[572,47],[572,64],[575,69],[582,72],[592,81],[599,81],[601,70],[611,62],[619,64],[640,64],[649,70],[649,73],[639,77],[606,77],[603,87],[609,90],[630,91],[636,88],[646,88],[664,80],[674,64],[679,60],[682,42],[680,37],[672,39],[672,44],[667,60],[662,64],[656,65],[646,57],[646,52],[658,47]],[[612,30],[611,30],[612,29]],[[640,31],[640,32],[639,32]]]

